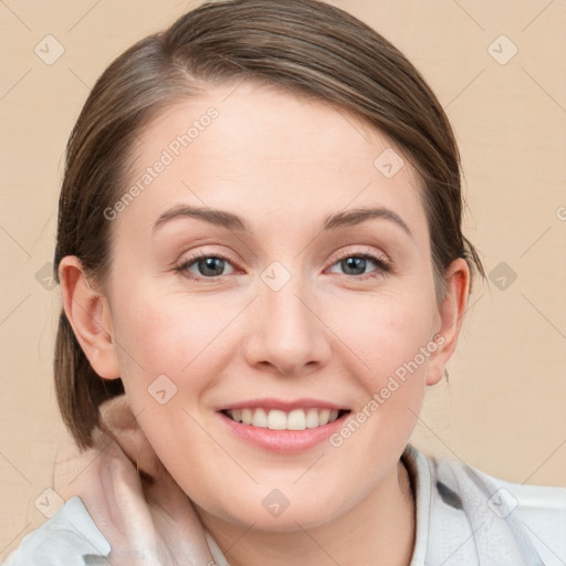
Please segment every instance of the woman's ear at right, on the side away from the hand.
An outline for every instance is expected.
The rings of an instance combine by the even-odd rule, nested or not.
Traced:
[[[429,359],[427,385],[438,384],[442,379],[444,366],[458,343],[470,289],[470,269],[465,260],[459,258],[450,264],[444,285],[444,298],[439,306],[440,328],[434,338],[437,349]]]

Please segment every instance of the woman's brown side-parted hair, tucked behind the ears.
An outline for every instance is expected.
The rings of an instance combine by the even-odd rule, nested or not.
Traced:
[[[66,148],[54,274],[76,255],[104,282],[112,263],[103,211],[124,192],[135,137],[165,108],[202,88],[243,80],[332,103],[377,128],[409,160],[422,185],[437,295],[463,258],[484,276],[462,234],[460,156],[439,101],[391,43],[347,12],[318,0],[206,2],[169,29],[119,55],[84,104]],[[92,446],[99,405],[124,392],[96,375],[64,311],[54,358],[57,402],[81,449]]]

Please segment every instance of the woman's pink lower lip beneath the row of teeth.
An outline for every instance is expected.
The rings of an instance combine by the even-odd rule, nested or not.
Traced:
[[[222,412],[218,415],[220,415],[222,421],[238,438],[263,450],[277,452],[280,454],[296,454],[324,442],[344,424],[348,416],[348,413],[343,415],[333,422],[313,429],[271,430],[235,422]]]

